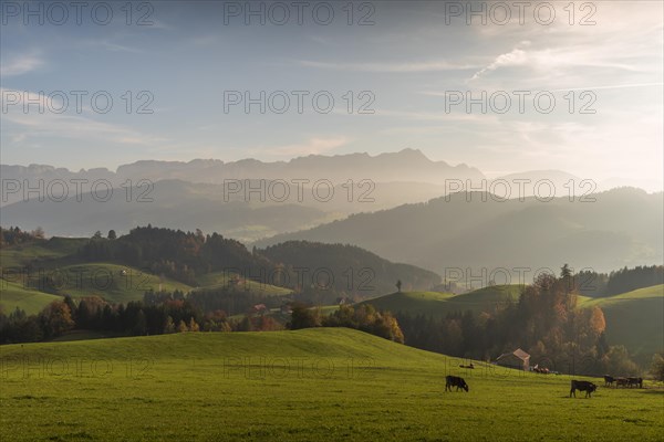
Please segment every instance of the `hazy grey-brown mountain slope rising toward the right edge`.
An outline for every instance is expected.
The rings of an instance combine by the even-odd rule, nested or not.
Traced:
[[[500,201],[481,192],[461,192],[353,214],[257,245],[288,240],[350,243],[443,277],[452,272],[457,280],[461,270],[465,280],[484,278],[485,285],[500,269],[516,277],[516,269],[527,267],[532,277],[538,269],[558,272],[563,263],[577,271],[608,271],[663,262],[662,192],[621,188],[591,198],[594,201],[570,202],[567,197]]]

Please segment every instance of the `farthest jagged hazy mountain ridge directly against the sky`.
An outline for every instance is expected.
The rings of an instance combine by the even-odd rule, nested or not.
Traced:
[[[221,185],[227,180],[264,179],[264,180],[330,180],[340,186],[347,180],[364,179],[374,182],[426,182],[443,186],[446,179],[478,180],[485,176],[477,169],[466,165],[450,166],[445,161],[433,161],[422,151],[404,149],[398,152],[370,156],[369,154],[349,154],[338,156],[310,155],[289,161],[263,162],[257,159],[242,159],[224,162],[218,159],[195,159],[189,162],[142,160],[123,165],[115,172],[105,169],[81,169],[70,171],[46,165],[8,166],[1,165],[0,171],[4,180],[39,179],[86,179],[108,180],[115,187],[127,180],[138,182],[149,180],[181,180],[196,183]],[[310,185],[311,187],[311,185]],[[11,201],[15,202],[15,196]],[[20,196],[19,196],[20,197]]]

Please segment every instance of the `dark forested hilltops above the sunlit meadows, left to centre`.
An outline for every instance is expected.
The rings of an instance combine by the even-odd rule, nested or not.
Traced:
[[[59,266],[75,263],[115,263],[141,269],[149,274],[203,287],[211,275],[237,274],[241,278],[277,285],[305,295],[336,299],[364,298],[394,290],[397,280],[408,290],[425,290],[440,277],[413,265],[395,264],[356,246],[290,242],[268,250],[249,251],[239,241],[200,230],[184,232],[152,225],[128,234],[107,238],[101,232],[91,239],[45,240],[18,228],[2,230],[2,253],[19,256],[20,266]],[[110,238],[108,238],[110,236]],[[75,246],[71,246],[75,242]],[[59,250],[58,259],[45,260],[22,253],[30,244],[49,244]],[[62,246],[61,246],[61,245]],[[320,296],[319,296],[320,297]]]

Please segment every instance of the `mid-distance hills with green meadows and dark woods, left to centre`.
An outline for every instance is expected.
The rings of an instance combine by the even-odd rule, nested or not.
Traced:
[[[147,291],[224,292],[232,285],[257,298],[288,296],[299,287],[302,298],[330,304],[346,294],[369,297],[382,293],[396,280],[416,288],[440,280],[424,269],[392,263],[342,244],[291,242],[250,252],[239,241],[217,233],[206,236],[200,231],[152,225],[113,240],[28,236],[17,242],[17,235],[9,234],[12,239],[0,249],[1,277],[22,284],[30,292],[100,296],[112,303],[139,301]],[[9,294],[7,298],[13,308],[21,306],[21,294],[17,286],[12,290],[11,298]],[[43,302],[40,304],[39,299]],[[34,298],[27,308],[34,311],[46,304],[45,297]]]

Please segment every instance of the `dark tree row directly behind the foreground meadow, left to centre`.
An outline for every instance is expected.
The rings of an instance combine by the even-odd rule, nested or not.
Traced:
[[[146,293],[143,301],[108,304],[97,296],[54,301],[37,315],[17,308],[9,315],[0,312],[0,344],[37,343],[56,338],[72,330],[102,332],[113,336],[146,336],[184,332],[273,332],[286,328],[349,327],[403,343],[396,319],[372,306],[342,306],[329,317],[319,309],[294,303],[290,318],[273,315],[264,305],[249,308],[239,318],[222,309],[201,308],[200,297],[181,292]],[[205,301],[205,298],[204,298]],[[279,317],[281,316],[281,317]]]

